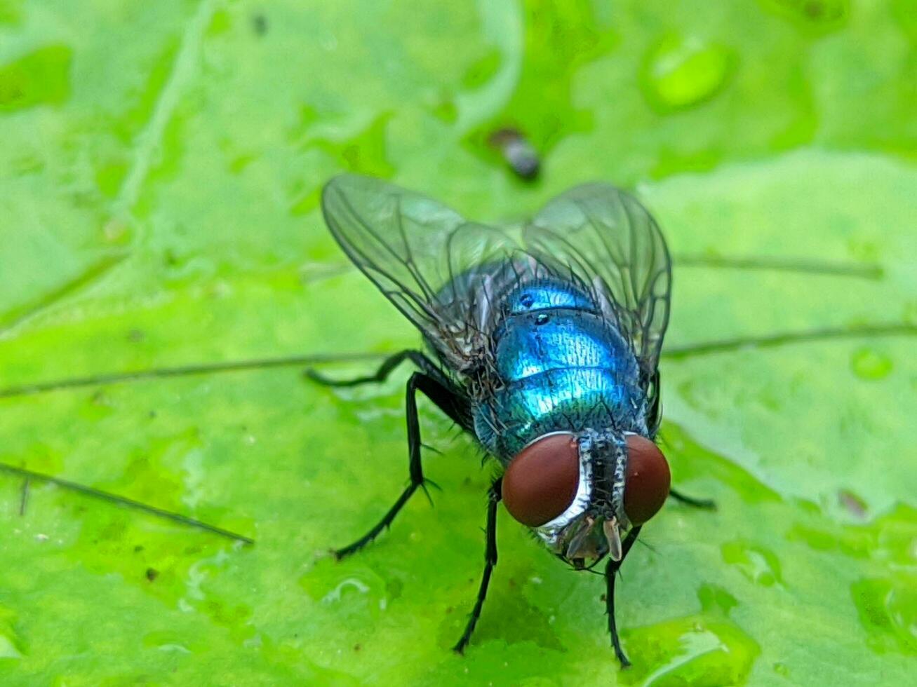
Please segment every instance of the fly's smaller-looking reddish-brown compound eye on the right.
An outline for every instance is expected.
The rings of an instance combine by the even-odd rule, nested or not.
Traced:
[[[637,434],[627,435],[627,475],[624,513],[633,525],[642,525],[666,502],[672,475],[657,445]]]

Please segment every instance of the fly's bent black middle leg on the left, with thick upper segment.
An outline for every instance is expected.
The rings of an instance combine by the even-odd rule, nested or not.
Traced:
[[[391,359],[392,358],[390,358],[390,360]],[[392,520],[398,515],[398,512],[403,508],[404,504],[408,502],[408,499],[414,495],[414,492],[417,491],[418,488],[426,490],[425,484],[428,480],[424,478],[424,470],[420,463],[421,441],[420,422],[417,420],[417,391],[422,392],[427,398],[436,403],[439,409],[442,409],[443,412],[453,420],[456,420],[459,424],[461,424],[459,418],[470,417],[468,401],[465,400],[464,396],[459,396],[454,387],[445,387],[434,377],[428,376],[423,372],[415,372],[411,378],[408,379],[404,401],[404,414],[407,420],[408,471],[410,473],[411,482],[404,488],[402,495],[398,496],[398,500],[389,508],[389,511],[372,529],[370,529],[369,532],[352,544],[335,551],[335,557],[338,560],[355,551],[359,551],[369,544],[370,541],[376,539],[383,529],[387,529],[392,525]]]

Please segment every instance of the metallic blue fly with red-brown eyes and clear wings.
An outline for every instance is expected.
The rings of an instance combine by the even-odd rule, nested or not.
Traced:
[[[548,202],[521,234],[466,221],[425,196],[344,175],[322,196],[344,252],[424,335],[355,386],[385,379],[403,361],[411,481],[381,521],[336,551],[374,540],[425,488],[416,393],[422,392],[502,467],[489,491],[485,566],[462,652],[481,615],[497,562],[503,503],[574,567],[607,558],[608,629],[614,580],[640,529],[670,490],[659,427],[659,351],[668,323],[671,265],[646,209],[613,186],[578,186]]]

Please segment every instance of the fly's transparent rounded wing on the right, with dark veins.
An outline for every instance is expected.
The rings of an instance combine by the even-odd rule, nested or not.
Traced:
[[[610,184],[583,184],[547,202],[524,243],[596,291],[652,376],[668,324],[671,261],[646,208]]]

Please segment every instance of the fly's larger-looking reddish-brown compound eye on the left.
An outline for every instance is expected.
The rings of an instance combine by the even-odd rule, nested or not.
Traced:
[[[523,525],[535,528],[557,518],[580,486],[580,445],[558,433],[526,446],[503,474],[503,504]]]

